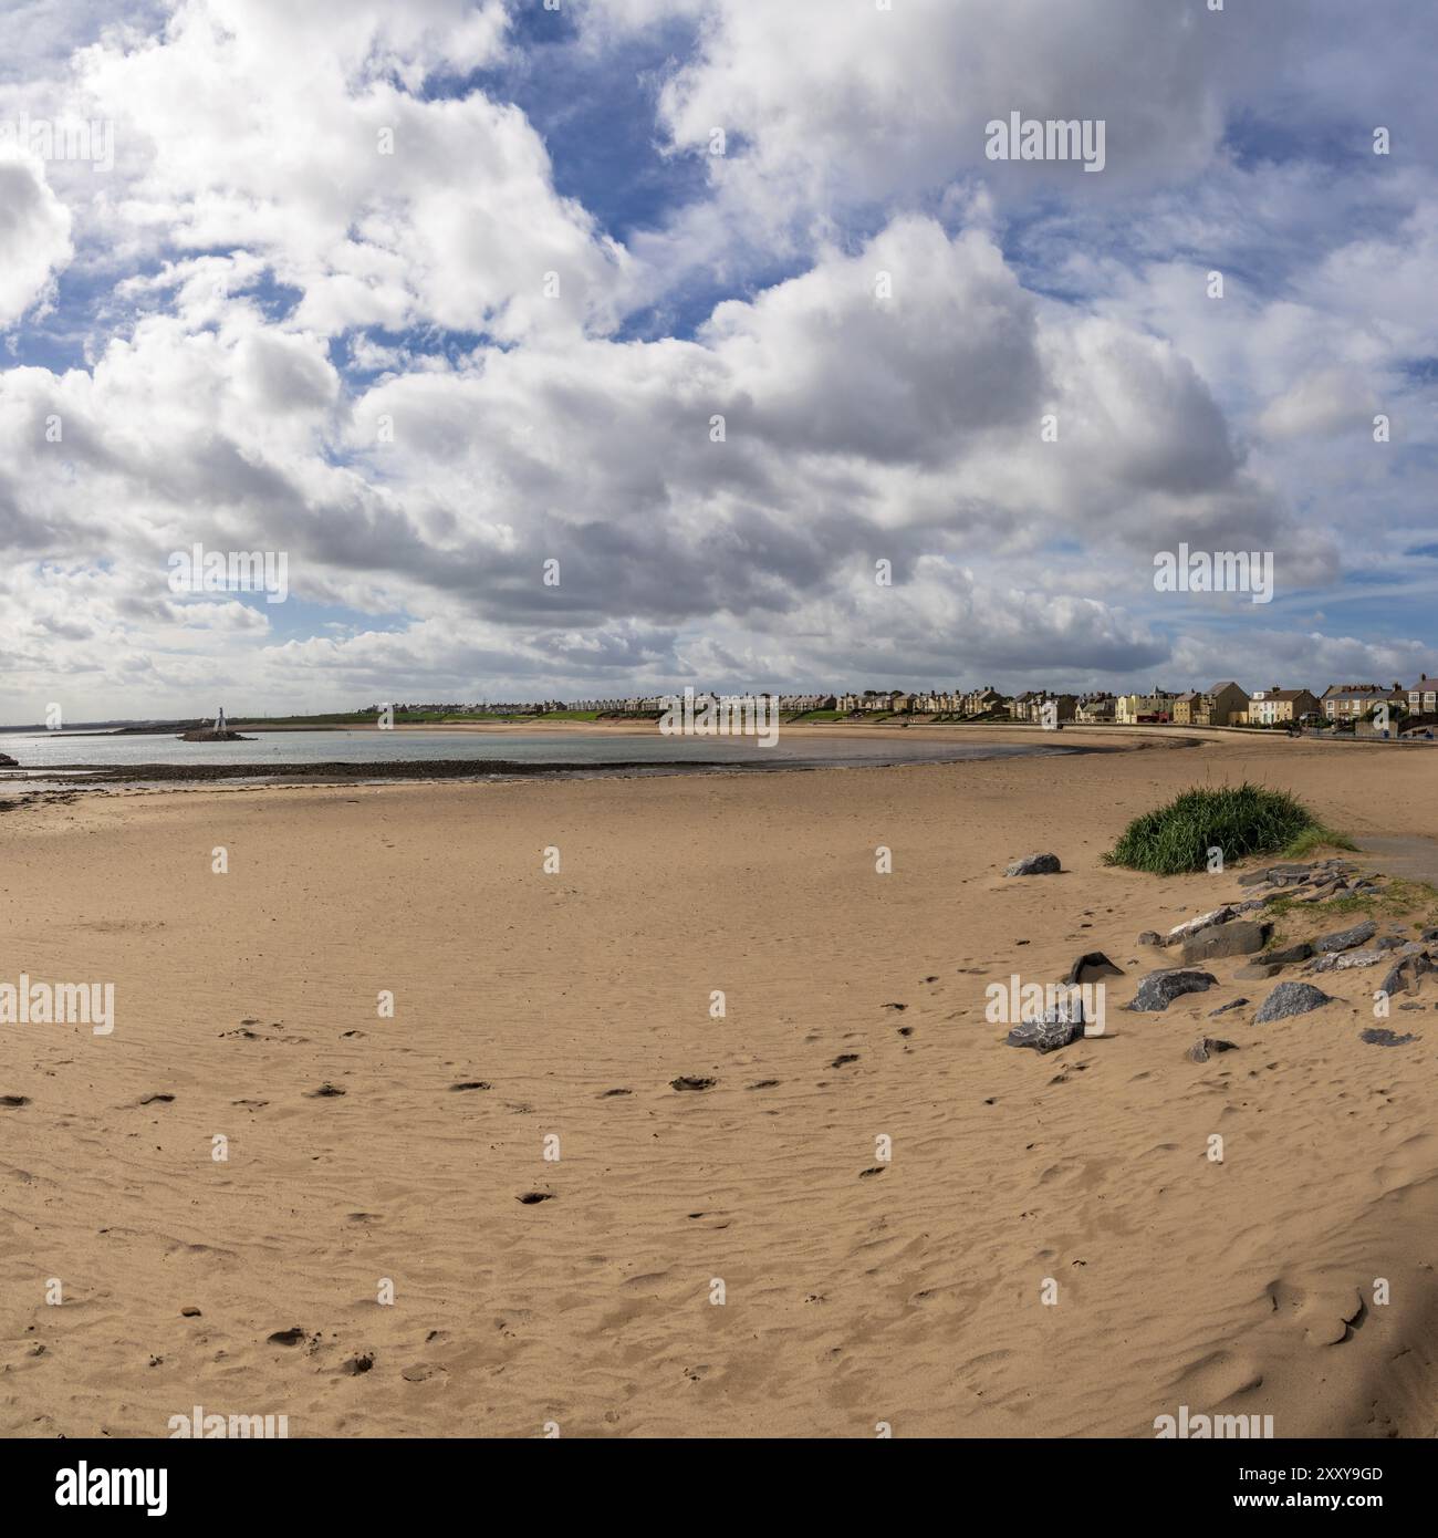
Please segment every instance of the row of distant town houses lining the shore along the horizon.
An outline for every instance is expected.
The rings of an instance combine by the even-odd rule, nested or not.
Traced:
[[[589,717],[644,718],[669,707],[672,695],[631,695],[604,700],[546,700],[503,704],[395,704],[397,715]],[[700,692],[703,698],[703,692]],[[1423,674],[1413,684],[1330,683],[1312,689],[1244,689],[1220,680],[1207,689],[1152,687],[1144,694],[1066,694],[1027,689],[1006,695],[981,689],[864,689],[846,694],[780,694],[780,715],[795,721],[892,723],[1030,723],[1075,726],[1227,726],[1353,732],[1361,737],[1432,737],[1438,726],[1438,678]],[[380,706],[371,706],[378,711]]]

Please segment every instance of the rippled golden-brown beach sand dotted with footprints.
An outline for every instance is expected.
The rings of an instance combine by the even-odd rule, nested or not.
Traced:
[[[1138,932],[1240,889],[1100,854],[1244,777],[1432,837],[1435,769],[1215,735],[9,811],[0,980],[111,980],[117,1023],[0,1026],[0,1432],[1143,1436],[1187,1404],[1430,1436],[1435,980],[1395,1049],[1358,1040],[1373,970],[1270,1026],[1207,1020],[1267,992],[1238,961],[1120,1012]],[[1035,849],[1066,874],[1001,878]],[[1106,1035],[1006,1047],[986,984],[1090,949],[1127,974]],[[1187,1061],[1206,1032],[1238,1050]]]

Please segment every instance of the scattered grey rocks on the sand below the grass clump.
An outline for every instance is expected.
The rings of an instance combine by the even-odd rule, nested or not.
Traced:
[[[1057,855],[1026,855],[1009,866],[1004,875],[1049,875],[1060,869]],[[1418,940],[1407,940],[1393,932],[1380,935],[1378,923],[1372,918],[1333,929],[1310,941],[1264,949],[1272,938],[1273,923],[1264,918],[1263,912],[1280,898],[1321,904],[1344,895],[1381,891],[1381,878],[1361,875],[1352,861],[1333,858],[1310,864],[1266,866],[1261,871],[1240,875],[1238,884],[1250,889],[1267,887],[1267,891],[1255,891],[1253,897],[1241,903],[1227,903],[1206,914],[1198,914],[1195,918],[1175,924],[1167,934],[1146,930],[1138,937],[1140,944],[1177,950],[1180,964],[1160,967],[1138,978],[1138,989],[1133,998],[1123,1006],[1124,1009],[1157,1014],[1166,1010],[1177,998],[1217,987],[1218,978],[1201,963],[1220,958],[1255,958],[1235,974],[1237,978],[1244,980],[1272,978],[1287,966],[1304,963],[1306,975],[1321,975],[1387,961],[1389,970],[1378,992],[1389,998],[1401,992],[1418,992],[1420,978],[1426,972],[1438,972],[1438,927],[1426,929]],[[1121,977],[1123,969],[1113,966],[1103,952],[1090,952],[1074,963],[1067,981],[1072,984],[1107,975]],[[1246,998],[1237,998],[1209,1014],[1223,1015],[1247,1003]],[[1289,978],[1277,983],[1263,1000],[1253,1014],[1253,1024],[1290,1020],[1330,1003],[1333,1003],[1332,995],[1324,994],[1317,984]],[[1400,1007],[1421,1009],[1423,1006],[1406,1003]],[[1074,1015],[1072,1007],[1049,1010],[1043,1020],[1015,1026],[1009,1032],[1007,1041],[1010,1046],[1054,1052],[1083,1035],[1081,1010],[1078,1012],[1080,1018],[1075,1020]],[[1373,1046],[1403,1046],[1415,1038],[1396,1035],[1392,1030],[1370,1029],[1361,1034],[1361,1040]],[[1233,1050],[1233,1043],[1204,1037],[1189,1049],[1187,1055],[1195,1063],[1206,1063],[1217,1052],[1227,1050]]]

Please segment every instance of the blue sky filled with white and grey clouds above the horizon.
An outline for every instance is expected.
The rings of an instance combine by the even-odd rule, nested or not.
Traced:
[[[1438,12],[1217,3],[0,0],[0,724],[1438,672]]]

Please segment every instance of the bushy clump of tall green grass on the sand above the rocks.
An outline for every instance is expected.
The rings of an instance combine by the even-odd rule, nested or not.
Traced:
[[[1341,834],[1318,818],[1286,791],[1258,784],[1184,791],[1153,812],[1135,817],[1118,843],[1104,855],[1106,864],[1153,875],[1204,871],[1209,849],[1223,851],[1224,864],[1249,855],[1289,855],[1332,844],[1352,849]]]

